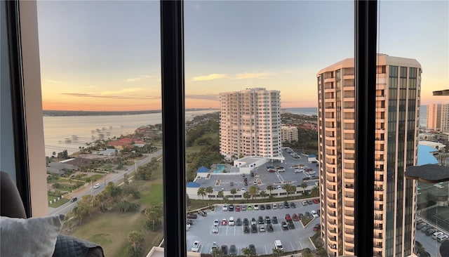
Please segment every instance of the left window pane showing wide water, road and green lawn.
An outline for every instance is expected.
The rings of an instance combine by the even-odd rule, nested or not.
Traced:
[[[48,212],[105,256],[163,239],[159,5],[37,1]]]

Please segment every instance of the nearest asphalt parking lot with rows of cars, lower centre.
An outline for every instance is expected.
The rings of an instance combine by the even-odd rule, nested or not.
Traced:
[[[270,209],[267,209],[267,207],[264,206],[264,210],[261,210],[260,208],[262,204],[257,204],[259,206],[259,210],[255,210],[255,204],[250,204],[252,206],[252,210],[248,210],[248,204],[240,204],[240,206],[247,206],[246,211],[223,211],[223,204],[218,204],[216,205],[215,211],[207,211],[207,216],[203,217],[199,215],[198,218],[193,220],[192,226],[190,226],[187,231],[187,251],[191,250],[192,244],[196,240],[198,240],[201,244],[199,248],[199,252],[201,253],[210,253],[210,246],[212,246],[213,242],[217,242],[219,249],[221,246],[226,245],[228,251],[229,247],[234,244],[236,246],[237,255],[241,255],[241,249],[248,247],[249,244],[255,245],[256,253],[258,255],[272,253],[272,249],[274,248],[274,240],[281,240],[284,251],[295,251],[304,248],[314,249],[309,237],[314,235],[315,232],[312,228],[314,225],[320,223],[319,218],[314,218],[306,228],[304,228],[300,220],[293,221],[295,228],[283,230],[281,227],[281,223],[286,221],[286,214],[290,214],[290,216],[293,217],[293,213],[296,213],[297,215],[302,213],[304,215],[306,212],[311,213],[311,211],[316,211],[319,209],[319,204],[312,202],[311,204],[304,206],[301,203],[302,201],[303,199],[293,201],[296,207],[288,209],[283,207],[283,202],[267,203],[269,204]],[[288,202],[290,205],[290,201]],[[273,204],[282,206],[282,209],[273,209]],[[234,209],[235,207],[236,204],[234,204]],[[278,223],[270,223],[273,228],[272,232],[267,230],[267,223],[258,223],[259,216],[262,216],[263,219],[265,216],[269,216],[271,220],[273,219],[273,216],[277,217]],[[255,218],[255,220],[257,220],[257,232],[244,232],[243,230],[245,226],[243,224],[229,225],[228,222],[230,217],[234,217],[234,220],[240,218],[242,221],[244,218],[248,218],[249,222],[252,218]],[[223,218],[227,221],[226,225],[222,225]],[[215,219],[219,220],[220,223],[220,225],[218,225],[217,233],[213,232],[213,224]],[[264,232],[260,232],[260,225],[265,228]]]

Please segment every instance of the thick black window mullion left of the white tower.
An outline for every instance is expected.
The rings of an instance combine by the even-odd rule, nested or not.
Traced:
[[[183,1],[161,1],[164,255],[187,256]]]

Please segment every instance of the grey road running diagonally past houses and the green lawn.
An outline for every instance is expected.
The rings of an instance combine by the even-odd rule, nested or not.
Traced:
[[[152,154],[147,155],[144,159],[141,159],[139,162],[137,162],[135,165],[129,166],[128,169],[125,171],[118,171],[118,173],[110,173],[107,178],[103,181],[103,183],[100,186],[100,188],[93,189],[93,187],[84,187],[81,190],[78,190],[77,192],[72,193],[72,197],[77,197],[78,199],[81,199],[81,197],[85,195],[98,195],[102,190],[105,190],[105,187],[107,183],[113,182],[116,183],[117,181],[121,180],[123,178],[123,175],[125,173],[132,173],[135,171],[136,166],[142,166],[147,164],[151,161],[153,157],[160,157],[162,155],[162,150],[158,150]],[[67,214],[69,211],[72,211],[74,207],[76,206],[76,202],[67,202],[65,204],[62,204],[58,208],[48,208],[48,214],[49,215],[57,215],[57,214]]]

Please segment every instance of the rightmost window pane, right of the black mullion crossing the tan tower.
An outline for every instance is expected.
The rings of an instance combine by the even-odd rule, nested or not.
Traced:
[[[441,242],[429,241],[430,234],[421,230],[420,220],[438,231],[448,229],[438,214],[448,208],[442,207],[447,206],[447,188],[417,183],[403,176],[410,166],[428,164],[421,147],[438,141],[438,131],[435,135],[433,131],[429,134],[426,124],[430,118],[429,105],[446,101],[433,97],[432,91],[446,88],[448,84],[448,10],[448,2],[441,1],[379,1],[378,52],[382,54],[377,65],[387,65],[389,72],[389,89],[385,91],[389,98],[389,126],[384,152],[388,155],[387,190],[384,192],[387,210],[386,220],[380,221],[386,223],[382,231],[385,243],[384,247],[375,247],[375,256],[410,256],[413,253],[438,256]],[[420,21],[411,18],[417,16]],[[433,34],[425,29],[429,27],[439,27],[441,33]],[[415,37],[417,34],[420,37]],[[380,78],[377,74],[377,79]],[[438,162],[435,159],[433,163]]]

